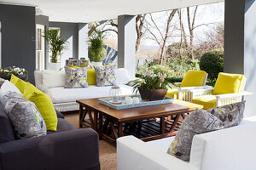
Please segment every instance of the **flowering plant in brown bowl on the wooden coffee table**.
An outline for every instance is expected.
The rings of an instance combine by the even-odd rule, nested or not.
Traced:
[[[141,78],[131,81],[134,90],[138,90],[145,101],[164,99],[167,87],[166,72],[149,67]]]

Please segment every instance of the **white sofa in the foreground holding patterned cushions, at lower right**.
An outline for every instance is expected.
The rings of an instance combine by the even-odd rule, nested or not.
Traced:
[[[172,139],[174,137],[150,142],[143,142],[133,136],[117,139],[117,169],[256,169],[256,122],[244,120],[237,127],[195,135],[189,162],[166,154]]]

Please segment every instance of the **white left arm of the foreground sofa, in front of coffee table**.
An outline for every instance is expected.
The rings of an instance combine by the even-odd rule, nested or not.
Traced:
[[[117,169],[193,170],[188,162],[153,148],[134,136],[117,139]]]

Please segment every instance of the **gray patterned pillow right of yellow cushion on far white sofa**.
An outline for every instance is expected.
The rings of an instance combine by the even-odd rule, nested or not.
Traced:
[[[96,66],[96,86],[116,86],[115,65]]]

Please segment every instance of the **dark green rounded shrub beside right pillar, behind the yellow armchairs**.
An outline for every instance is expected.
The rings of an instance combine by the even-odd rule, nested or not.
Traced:
[[[217,79],[218,73],[224,71],[224,50],[214,49],[203,54],[199,66],[208,73],[210,80]]]

